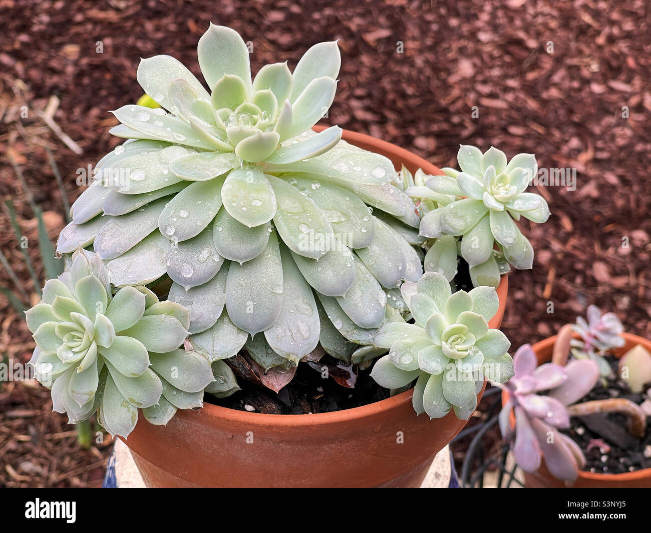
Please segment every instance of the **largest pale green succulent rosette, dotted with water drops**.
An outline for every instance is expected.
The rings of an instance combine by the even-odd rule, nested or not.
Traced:
[[[98,163],[102,181],[72,207],[59,253],[92,246],[117,287],[167,274],[190,341],[213,362],[254,335],[278,366],[318,342],[370,357],[376,329],[397,320],[387,294],[422,274],[419,217],[387,157],[337,127],[311,130],[335,93],[337,44],[252,79],[242,38],[211,25],[198,57],[211,92],[172,57],[141,63],[162,108],[115,112],[111,131],[128,140]]]

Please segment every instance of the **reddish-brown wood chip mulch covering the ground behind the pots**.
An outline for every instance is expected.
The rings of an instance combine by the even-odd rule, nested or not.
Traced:
[[[36,225],[10,161],[55,239],[65,219],[46,148],[74,200],[77,169],[118,143],[107,111],[142,94],[139,58],[167,53],[199,74],[197,40],[212,20],[253,43],[254,71],[285,59],[294,66],[308,46],[339,39],[331,124],[439,166],[454,165],[464,143],[576,169],[574,191],[538,187],[549,221],[521,224],[536,259],[510,277],[503,329],[514,348],[553,335],[590,303],[615,311],[631,333],[651,333],[651,17],[643,0],[0,0],[0,9],[0,197],[13,200],[29,242]],[[0,286],[29,305],[34,286],[4,201],[0,228],[24,294],[5,269]],[[37,261],[36,246],[27,250]],[[0,295],[0,357],[27,361],[33,346]],[[48,398],[29,382],[0,389],[0,485],[96,486],[109,446],[81,450]]]

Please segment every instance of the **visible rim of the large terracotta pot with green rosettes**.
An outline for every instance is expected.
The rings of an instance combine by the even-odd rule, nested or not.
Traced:
[[[322,131],[326,126],[314,126],[314,131]],[[351,144],[362,144],[364,146],[374,146],[375,152],[384,156],[391,156],[389,159],[395,162],[396,159],[403,161],[406,167],[412,172],[418,167],[422,168],[428,174],[441,174],[442,171],[436,165],[426,161],[420,156],[400,148],[395,144],[376,139],[365,133],[358,133],[357,131],[343,130],[342,139],[350,142]],[[409,163],[409,164],[407,164]],[[499,286],[497,286],[497,295],[499,297],[499,308],[497,314],[488,322],[490,327],[499,328],[504,316],[506,308],[506,297],[508,295],[508,275],[502,275]],[[484,382],[484,387],[486,383]],[[482,390],[484,390],[482,388]],[[368,403],[352,409],[342,409],[341,411],[331,411],[330,413],[313,413],[311,415],[268,415],[265,413],[249,413],[248,411],[239,411],[238,409],[230,409],[229,407],[221,407],[213,403],[204,403],[202,409],[198,412],[202,416],[208,418],[216,418],[222,422],[231,420],[239,424],[262,424],[268,426],[281,426],[281,427],[295,427],[295,426],[322,426],[326,424],[340,424],[341,422],[350,422],[367,418],[376,413],[383,411],[391,411],[393,409],[402,409],[406,403],[411,403],[413,396],[413,388],[385,398],[379,402]],[[180,411],[182,413],[182,411]],[[177,413],[177,416],[178,414]]]

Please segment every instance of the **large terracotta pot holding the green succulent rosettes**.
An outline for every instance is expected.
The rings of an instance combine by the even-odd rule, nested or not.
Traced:
[[[344,131],[344,139],[389,157],[396,168],[404,163],[412,172],[419,167],[440,172],[421,157],[368,135]],[[491,327],[501,324],[507,288],[504,276]],[[139,417],[127,444],[148,486],[418,487],[434,456],[465,421],[452,412],[437,420],[417,417],[411,395],[408,390],[363,407],[315,415],[263,415],[204,403],[196,411],[177,411],[165,427]]]

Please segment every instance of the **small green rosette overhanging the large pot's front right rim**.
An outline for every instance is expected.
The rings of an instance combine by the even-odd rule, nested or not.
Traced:
[[[400,389],[417,379],[413,407],[420,415],[445,417],[450,409],[467,420],[477,407],[484,376],[503,383],[513,376],[510,341],[488,321],[499,307],[492,287],[452,294],[445,276],[426,272],[404,282],[402,295],[415,323],[389,323],[375,336],[389,354],[371,376],[382,387]]]

